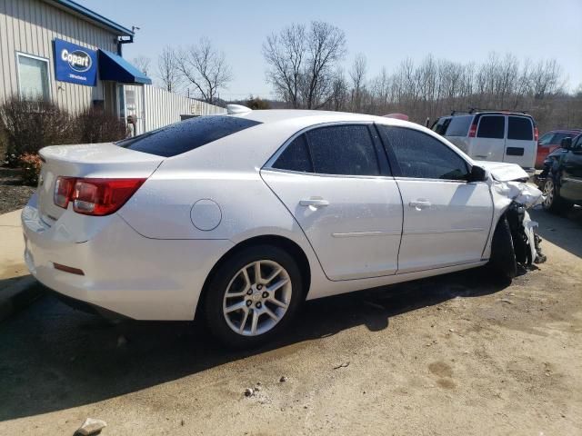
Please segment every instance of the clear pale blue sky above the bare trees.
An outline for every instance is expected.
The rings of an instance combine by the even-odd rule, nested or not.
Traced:
[[[156,64],[165,45],[186,46],[203,35],[224,51],[235,79],[226,99],[271,96],[261,46],[291,23],[322,20],[346,32],[346,68],[366,55],[368,78],[406,57],[426,54],[480,62],[496,51],[522,60],[556,58],[570,89],[582,84],[581,0],[76,0],[120,25],[141,29],[124,57],[142,54]],[[152,75],[152,74],[150,74]]]

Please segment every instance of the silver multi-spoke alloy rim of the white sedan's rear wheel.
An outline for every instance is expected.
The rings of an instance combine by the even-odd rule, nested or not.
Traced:
[[[257,336],[273,329],[291,302],[291,278],[279,263],[261,260],[241,268],[226,287],[223,314],[233,332]]]

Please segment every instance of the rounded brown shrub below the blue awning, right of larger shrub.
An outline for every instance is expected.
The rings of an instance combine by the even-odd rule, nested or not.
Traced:
[[[75,129],[81,144],[110,143],[127,136],[127,126],[119,117],[96,107],[76,116]]]

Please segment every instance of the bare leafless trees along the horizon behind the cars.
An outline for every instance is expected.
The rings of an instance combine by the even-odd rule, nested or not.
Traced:
[[[276,98],[289,108],[403,113],[420,124],[452,110],[484,108],[527,111],[540,131],[582,127],[582,87],[574,94],[565,91],[555,59],[533,62],[491,53],[481,63],[460,63],[428,54],[419,63],[405,59],[394,71],[384,67],[369,76],[365,54],[356,54],[344,69],[346,45],[343,30],[319,21],[267,35],[262,54]],[[146,58],[135,63],[149,68]],[[187,48],[166,47],[156,67],[168,91],[193,88],[212,104],[220,103],[218,93],[233,77],[225,54],[206,38]]]

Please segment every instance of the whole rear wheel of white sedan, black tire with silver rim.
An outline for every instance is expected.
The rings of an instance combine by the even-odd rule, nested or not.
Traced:
[[[220,264],[208,283],[203,307],[208,328],[230,348],[269,342],[285,330],[303,301],[301,279],[285,250],[273,245],[243,249]]]

